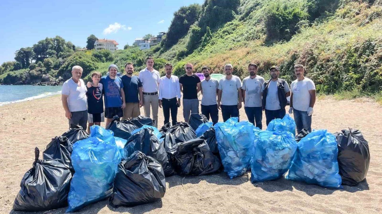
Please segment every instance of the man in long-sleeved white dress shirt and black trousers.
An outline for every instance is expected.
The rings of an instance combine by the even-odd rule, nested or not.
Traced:
[[[163,106],[164,124],[170,121],[171,111],[172,125],[175,125],[181,97],[179,79],[172,75],[172,64],[167,63],[165,71],[166,75],[159,80],[159,107]]]

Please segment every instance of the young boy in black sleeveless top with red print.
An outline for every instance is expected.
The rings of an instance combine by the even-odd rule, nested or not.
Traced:
[[[99,72],[92,73],[91,87],[87,86],[87,133],[90,134],[90,126],[101,125],[101,122],[105,121],[104,117],[104,99],[103,85],[99,83],[101,80],[101,74]]]

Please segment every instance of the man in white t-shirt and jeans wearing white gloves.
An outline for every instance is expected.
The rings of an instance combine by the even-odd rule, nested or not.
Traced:
[[[313,106],[316,102],[316,86],[314,82],[304,77],[304,66],[301,64],[295,65],[295,75],[297,80],[290,85],[290,109],[296,121],[297,133],[303,128],[312,131],[312,114]]]

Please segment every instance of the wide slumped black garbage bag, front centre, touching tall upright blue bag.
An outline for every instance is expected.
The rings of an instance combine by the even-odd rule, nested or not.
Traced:
[[[176,144],[170,151],[175,171],[182,175],[204,175],[219,170],[221,163],[210,151],[204,139],[192,139]]]

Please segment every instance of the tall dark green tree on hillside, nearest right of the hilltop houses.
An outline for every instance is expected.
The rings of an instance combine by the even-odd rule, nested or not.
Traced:
[[[166,37],[162,40],[165,49],[175,45],[180,38],[187,34],[190,26],[194,24],[197,19],[199,19],[201,11],[201,5],[192,4],[189,6],[183,6],[174,13],[174,18],[168,28]]]

